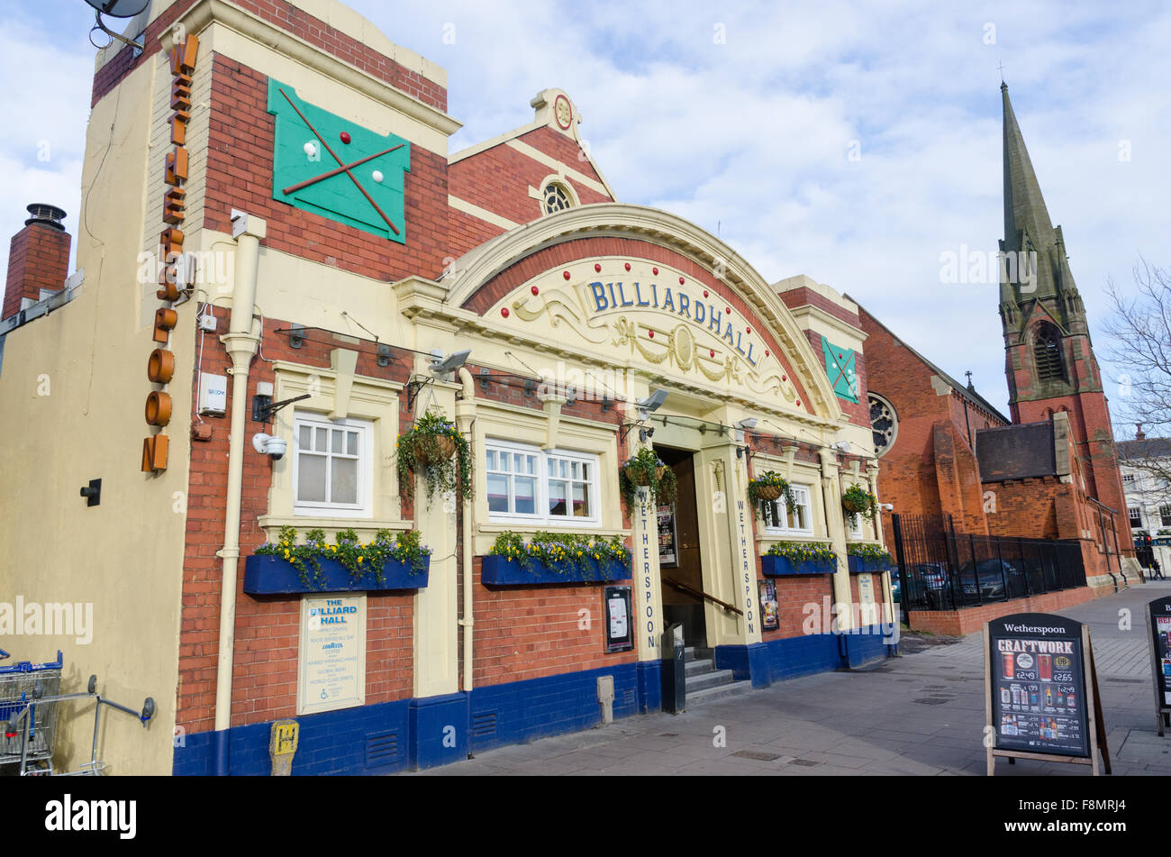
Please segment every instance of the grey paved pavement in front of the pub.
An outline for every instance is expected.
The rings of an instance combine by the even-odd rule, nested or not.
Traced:
[[[1090,626],[1115,775],[1171,775],[1171,736],[1155,732],[1144,617],[1145,604],[1169,591],[1171,583],[1148,583],[1062,611]],[[984,776],[982,633],[909,649],[678,715],[624,718],[398,775]],[[1089,766],[997,762],[998,776],[1089,774]]]

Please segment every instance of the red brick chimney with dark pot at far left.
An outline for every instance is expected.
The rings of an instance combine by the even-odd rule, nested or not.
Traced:
[[[25,228],[12,236],[8,251],[8,281],[0,320],[16,315],[30,302],[60,292],[69,275],[71,239],[62,225],[66,213],[55,205],[34,203]],[[43,294],[42,294],[43,293]]]

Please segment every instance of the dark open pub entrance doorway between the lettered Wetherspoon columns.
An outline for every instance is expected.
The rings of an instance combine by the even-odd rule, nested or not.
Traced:
[[[659,576],[663,581],[663,618],[683,623],[684,645],[707,646],[704,618],[704,574],[699,561],[699,515],[696,507],[694,453],[656,446],[655,453],[674,472],[676,501],[656,509],[659,533]]]

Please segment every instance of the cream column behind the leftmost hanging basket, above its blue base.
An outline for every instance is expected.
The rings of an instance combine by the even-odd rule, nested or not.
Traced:
[[[431,378],[423,356],[416,357],[415,377]],[[460,384],[434,380],[413,403],[416,419],[425,410],[456,421],[456,391]],[[460,498],[436,495],[427,502],[426,479],[415,474],[415,526],[431,548],[427,585],[415,595],[415,697],[436,697],[459,690],[458,591],[456,574],[456,505]]]

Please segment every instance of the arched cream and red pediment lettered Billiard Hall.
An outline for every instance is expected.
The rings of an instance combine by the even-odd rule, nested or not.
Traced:
[[[457,260],[444,303],[595,357],[838,423],[806,332],[727,245],[643,206],[571,208]],[[507,334],[506,334],[507,335]]]

